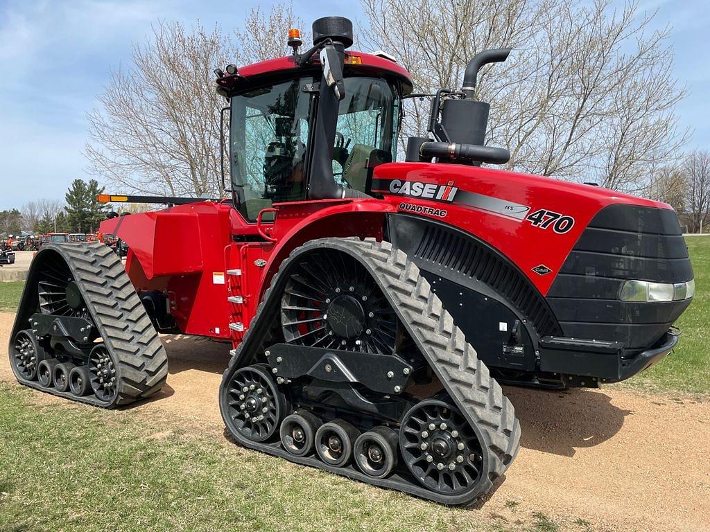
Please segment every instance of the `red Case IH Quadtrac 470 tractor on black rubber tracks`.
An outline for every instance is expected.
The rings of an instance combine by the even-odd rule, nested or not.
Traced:
[[[687,248],[666,204],[481,166],[509,155],[484,146],[476,74],[509,50],[439,90],[395,162],[410,74],[351,33],[322,18],[306,52],[294,31],[293,55],[215,71],[231,199],[104,221],[125,267],[102,243],[43,245],[13,370],[111,407],[163,386],[156,331],[223,340],[239,444],[469,504],[518,452],[500,383],[595,387],[670,353]]]

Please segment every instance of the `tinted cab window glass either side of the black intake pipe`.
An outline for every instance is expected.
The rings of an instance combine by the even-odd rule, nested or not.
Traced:
[[[315,82],[300,77],[231,97],[229,160],[239,212],[256,220],[277,201],[306,199],[309,126]],[[377,77],[349,77],[339,104],[334,179],[364,191],[368,170],[395,158],[398,91]]]

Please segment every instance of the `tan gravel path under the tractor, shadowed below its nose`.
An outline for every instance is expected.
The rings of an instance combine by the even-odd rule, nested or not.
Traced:
[[[13,380],[6,353],[13,318],[0,313],[3,380]],[[175,418],[224,440],[217,389],[229,346],[182,336],[163,343],[168,386],[130,415]],[[520,453],[505,482],[471,509],[472,521],[512,526],[516,515],[540,511],[571,528],[578,520],[579,530],[589,528],[584,521],[599,531],[708,530],[710,401],[620,389],[506,394],[523,429]]]

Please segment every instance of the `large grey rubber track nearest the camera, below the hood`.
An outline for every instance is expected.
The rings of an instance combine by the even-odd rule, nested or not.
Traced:
[[[251,344],[256,349],[261,346],[258,338],[250,337],[258,336],[260,331],[273,320],[271,314],[274,306],[280,301],[280,285],[285,283],[290,266],[297,262],[298,257],[320,249],[339,250],[355,257],[379,284],[410,336],[417,343],[417,347],[422,351],[422,355],[425,356],[466,420],[476,430],[481,439],[481,446],[488,451],[484,455],[483,465],[486,477],[479,482],[479,489],[475,493],[467,494],[469,497],[466,500],[454,496],[442,497],[432,492],[427,493],[419,486],[409,489],[403,486],[402,482],[388,482],[388,480],[375,482],[351,469],[336,471],[317,460],[315,462],[312,459],[295,460],[285,451],[278,452],[268,445],[254,444],[236,434],[234,437],[250,448],[285,456],[289,460],[315,465],[329,471],[341,472],[346,476],[372,484],[402,489],[445,504],[474,502],[477,497],[491,489],[493,482],[503,475],[517,455],[520,446],[520,424],[515,418],[513,405],[503,395],[498,382],[489,374],[488,367],[476,356],[474,348],[466,342],[464,333],[455,326],[451,315],[444,309],[437,295],[432,292],[429,282],[420,276],[419,268],[408,259],[407,255],[393,248],[391,243],[377,242],[369,238],[364,241],[358,238],[323,238],[312,240],[291,253],[280,267],[279,274],[274,277],[255,318],[251,321],[244,342],[239,345],[229,367],[224,372],[220,387],[222,417],[229,416],[226,404],[223,404],[222,390],[226,388],[234,371],[249,365],[253,360],[255,353],[245,352],[245,349]],[[276,292],[272,294],[274,290]]]

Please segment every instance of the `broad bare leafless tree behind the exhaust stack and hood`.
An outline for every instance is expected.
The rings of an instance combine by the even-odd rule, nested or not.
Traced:
[[[461,86],[466,63],[510,47],[508,62],[479,76],[491,102],[488,143],[510,150],[508,167],[628,191],[685,140],[674,107],[669,31],[610,0],[361,0],[364,42],[399,55],[417,92]],[[427,101],[408,105],[403,132],[422,134]]]

